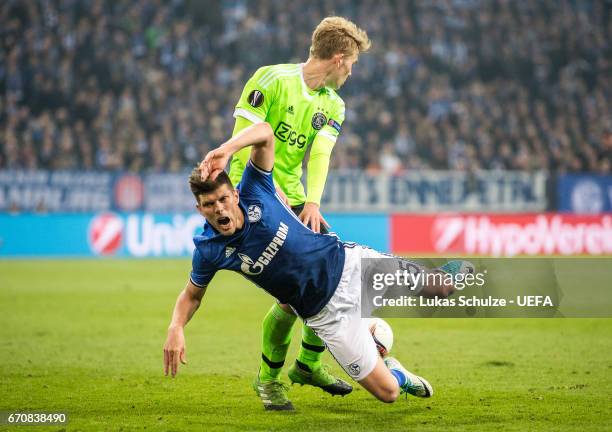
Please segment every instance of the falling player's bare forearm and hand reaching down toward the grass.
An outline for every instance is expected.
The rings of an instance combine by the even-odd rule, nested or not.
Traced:
[[[185,325],[202,302],[202,297],[206,292],[206,287],[200,288],[195,286],[191,281],[176,299],[174,312],[172,313],[172,321],[168,327],[168,337],[164,344],[164,374],[168,372],[172,376],[176,376],[178,372],[179,361],[187,364],[185,356],[185,334],[183,329]]]

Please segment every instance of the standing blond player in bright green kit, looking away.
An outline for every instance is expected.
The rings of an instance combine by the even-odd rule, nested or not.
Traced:
[[[366,32],[341,17],[325,18],[314,30],[310,55],[303,64],[264,66],[247,82],[236,105],[233,135],[254,123],[268,122],[274,130],[274,183],[279,196],[315,232],[327,232],[319,211],[329,160],[344,121],[344,102],[337,95],[351,75],[360,53],[370,47]],[[302,185],[302,161],[310,147],[307,194]],[[230,178],[240,182],[250,149],[234,155]],[[267,410],[292,410],[287,388],[280,381],[296,320],[288,305],[275,303],[263,321],[262,362],[253,383]],[[321,363],[325,346],[307,326],[302,346],[289,369],[293,383],[345,395],[352,387],[332,376]]]

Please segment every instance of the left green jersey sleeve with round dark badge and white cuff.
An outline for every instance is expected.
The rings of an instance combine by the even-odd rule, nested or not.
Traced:
[[[259,68],[247,81],[234,110],[234,117],[243,117],[253,123],[266,120],[276,99],[277,86],[265,80],[268,67]]]

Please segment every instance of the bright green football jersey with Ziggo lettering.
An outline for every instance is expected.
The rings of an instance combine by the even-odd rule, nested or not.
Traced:
[[[264,66],[245,85],[234,117],[272,126],[274,180],[294,206],[306,201],[301,182],[306,150],[317,135],[336,141],[344,121],[344,102],[329,87],[309,89],[301,64]],[[250,154],[248,148],[241,151]],[[244,168],[239,157],[232,159],[230,178],[234,184],[240,181]]]

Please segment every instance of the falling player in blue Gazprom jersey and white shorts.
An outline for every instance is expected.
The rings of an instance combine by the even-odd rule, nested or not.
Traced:
[[[239,191],[224,171],[231,156],[253,146]],[[289,304],[324,342],[340,366],[372,395],[393,402],[402,393],[430,397],[431,385],[399,361],[380,357],[361,318],[361,259],[387,255],[335,235],[314,233],[276,194],[274,135],[268,123],[250,126],[208,153],[189,178],[196,207],[206,218],[194,237],[192,271],[174,308],[164,346],[164,371],[185,363],[184,326],[217,270],[233,270]],[[395,261],[401,264],[401,259]],[[452,286],[423,287],[420,295],[446,297]],[[293,409],[277,406],[278,410]]]

